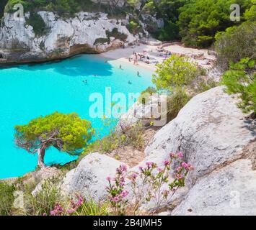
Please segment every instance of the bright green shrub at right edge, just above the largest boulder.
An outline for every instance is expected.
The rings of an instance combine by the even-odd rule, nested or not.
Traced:
[[[254,111],[256,114],[256,73],[255,61],[244,58],[239,63],[231,63],[230,70],[224,73],[222,83],[226,92],[237,94],[238,106],[245,113]]]

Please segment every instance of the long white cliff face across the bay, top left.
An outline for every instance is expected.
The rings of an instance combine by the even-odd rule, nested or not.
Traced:
[[[100,53],[128,45],[139,38],[126,28],[128,19],[108,19],[104,13],[80,12],[70,19],[61,19],[53,12],[37,14],[45,22],[43,35],[35,35],[33,27],[27,24],[30,13],[19,20],[14,19],[14,14],[5,14],[0,31],[0,54],[6,62],[36,62],[82,52]],[[122,40],[107,35],[113,29],[123,35]]]

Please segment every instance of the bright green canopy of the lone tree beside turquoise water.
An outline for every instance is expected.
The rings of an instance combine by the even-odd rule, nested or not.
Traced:
[[[45,151],[49,147],[78,155],[92,138],[94,130],[91,123],[81,119],[78,114],[60,114],[55,112],[40,116],[28,124],[15,126],[15,142],[18,147],[35,153],[37,149]]]

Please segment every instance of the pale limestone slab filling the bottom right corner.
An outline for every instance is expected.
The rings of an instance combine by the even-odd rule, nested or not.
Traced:
[[[198,180],[172,215],[256,215],[256,171],[237,160]]]

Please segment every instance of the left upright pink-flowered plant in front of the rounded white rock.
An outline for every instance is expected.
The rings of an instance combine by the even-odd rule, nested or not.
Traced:
[[[107,177],[107,193],[109,194],[110,203],[118,215],[123,213],[125,204],[128,202],[125,200],[128,195],[128,191],[124,189],[125,172],[127,172],[126,165],[120,165],[116,170],[115,178]]]

